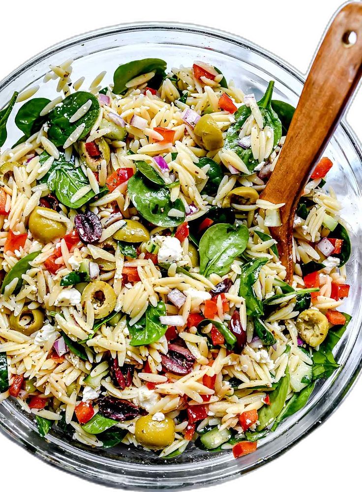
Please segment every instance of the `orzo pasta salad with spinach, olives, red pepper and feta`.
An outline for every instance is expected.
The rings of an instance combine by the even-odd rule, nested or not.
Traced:
[[[332,162],[298,205],[290,285],[283,203],[259,196],[294,112],[273,82],[257,101],[205,62],[129,62],[87,90],[71,74],[51,66],[54,100],[34,87],[0,112],[0,401],[92,447],[255,451],[338,368]]]

